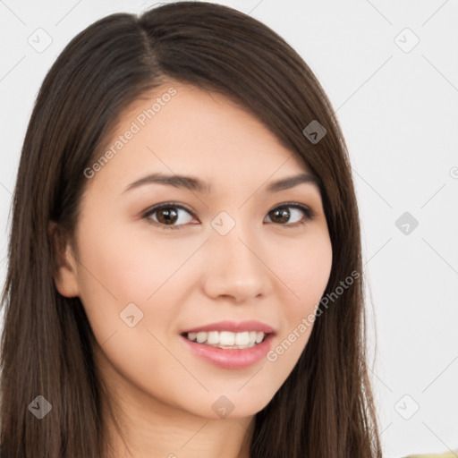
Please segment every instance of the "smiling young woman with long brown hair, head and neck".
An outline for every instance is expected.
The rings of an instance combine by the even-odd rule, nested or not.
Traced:
[[[381,456],[344,138],[250,16],[181,2],[73,38],[9,257],[2,456]]]

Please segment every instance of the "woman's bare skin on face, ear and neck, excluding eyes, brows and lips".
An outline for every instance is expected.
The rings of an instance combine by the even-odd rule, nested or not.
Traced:
[[[269,182],[310,169],[219,94],[165,84],[123,113],[107,144],[171,86],[177,93],[170,102],[88,180],[76,244],[67,244],[55,285],[64,296],[81,298],[131,456],[247,458],[254,415],[293,370],[311,327],[276,361],[264,358],[248,369],[200,359],[180,333],[224,319],[256,319],[274,327],[276,348],[325,291],[332,264],[327,221],[311,183],[266,191]],[[195,175],[213,190],[153,183],[123,192],[154,172]],[[177,230],[148,223],[164,221],[160,212],[142,217],[168,201],[196,216],[178,209]],[[290,219],[275,222],[271,210],[288,201],[316,216],[297,225],[305,214],[289,208]],[[211,225],[222,211],[235,222],[224,236]],[[134,327],[120,318],[131,302],[143,313]],[[234,406],[225,419],[212,409],[221,395]],[[107,428],[114,455],[128,456],[113,425]]]

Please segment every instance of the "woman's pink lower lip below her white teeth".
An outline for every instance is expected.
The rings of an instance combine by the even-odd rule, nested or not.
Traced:
[[[233,348],[229,350],[198,344],[197,342],[191,342],[191,340],[182,335],[181,337],[192,352],[215,366],[225,369],[245,369],[265,358],[272,346],[274,335],[267,335],[260,344],[253,347],[243,349]]]

